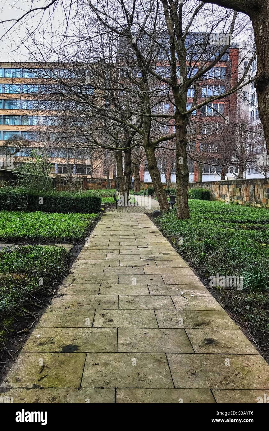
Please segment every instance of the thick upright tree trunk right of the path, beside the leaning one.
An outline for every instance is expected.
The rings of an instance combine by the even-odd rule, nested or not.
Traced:
[[[176,178],[177,178],[177,218],[189,219],[187,160],[187,122],[176,119]]]

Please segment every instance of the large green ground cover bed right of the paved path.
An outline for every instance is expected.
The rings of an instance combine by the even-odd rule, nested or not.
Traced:
[[[189,207],[190,219],[173,210],[156,224],[203,278],[243,276],[243,290],[216,287],[220,299],[251,331],[269,333],[269,211],[203,200]]]

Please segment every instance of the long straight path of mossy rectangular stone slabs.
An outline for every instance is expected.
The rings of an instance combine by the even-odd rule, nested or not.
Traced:
[[[14,403],[256,403],[269,365],[145,214],[105,213],[2,387]]]

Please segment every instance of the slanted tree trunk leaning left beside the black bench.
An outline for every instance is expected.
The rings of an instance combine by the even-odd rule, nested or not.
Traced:
[[[155,194],[158,198],[158,203],[160,205],[161,211],[168,211],[169,204],[165,194],[164,187],[161,182],[161,174],[157,167],[157,160],[155,157],[155,149],[152,146],[145,146],[146,156],[149,165],[149,174],[152,179],[152,184],[154,187]]]

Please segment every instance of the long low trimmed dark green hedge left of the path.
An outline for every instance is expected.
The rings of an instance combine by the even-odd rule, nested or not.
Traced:
[[[41,199],[42,198],[42,199]],[[0,209],[8,211],[79,212],[92,214],[101,211],[101,197],[87,192],[24,191],[20,188],[0,188]]]

